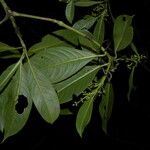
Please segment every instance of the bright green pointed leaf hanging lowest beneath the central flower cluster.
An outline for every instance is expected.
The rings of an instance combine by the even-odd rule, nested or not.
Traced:
[[[85,127],[89,124],[91,120],[92,111],[93,111],[93,99],[86,100],[78,111],[76,119],[76,129],[81,137]]]

